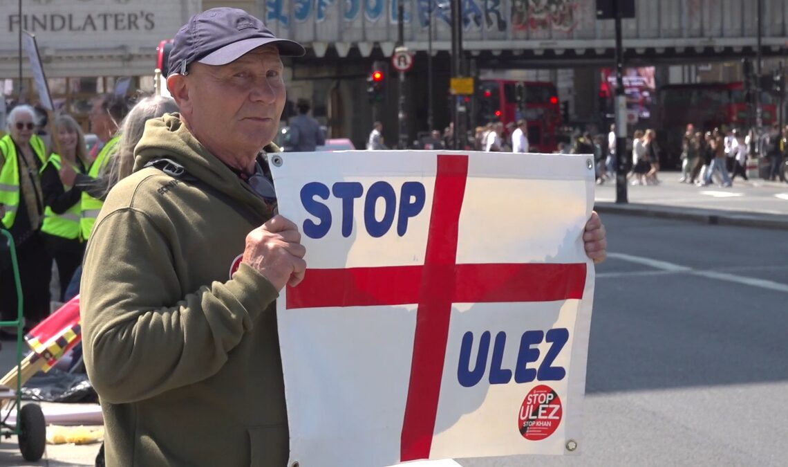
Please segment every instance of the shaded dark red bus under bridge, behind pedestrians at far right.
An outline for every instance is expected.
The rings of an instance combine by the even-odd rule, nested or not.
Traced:
[[[756,125],[754,106],[750,112],[741,81],[667,84],[660,88],[658,95],[657,135],[663,148],[670,152],[668,157],[675,159],[673,162],[678,161],[681,154],[682,136],[689,123],[695,125],[697,131],[724,128],[746,132]],[[762,92],[760,102],[765,128],[776,121],[777,106],[768,92]]]

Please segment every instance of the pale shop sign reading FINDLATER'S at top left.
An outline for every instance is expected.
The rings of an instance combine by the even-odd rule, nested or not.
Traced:
[[[139,47],[154,50],[199,9],[199,0],[0,0],[0,50],[16,50],[19,29],[41,50]]]

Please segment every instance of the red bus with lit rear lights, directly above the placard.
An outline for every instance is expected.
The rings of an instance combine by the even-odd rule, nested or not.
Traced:
[[[481,80],[478,86],[476,121],[504,125],[524,118],[532,152],[555,151],[561,125],[556,86],[545,81]]]

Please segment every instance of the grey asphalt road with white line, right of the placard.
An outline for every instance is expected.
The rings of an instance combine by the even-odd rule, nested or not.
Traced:
[[[582,454],[459,463],[786,465],[788,231],[603,219]]]

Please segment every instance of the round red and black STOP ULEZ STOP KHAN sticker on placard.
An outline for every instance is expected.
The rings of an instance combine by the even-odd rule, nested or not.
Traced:
[[[563,406],[556,391],[541,384],[534,387],[522,401],[518,428],[523,438],[539,441],[556,432],[563,418]]]

